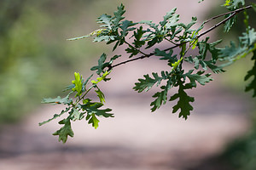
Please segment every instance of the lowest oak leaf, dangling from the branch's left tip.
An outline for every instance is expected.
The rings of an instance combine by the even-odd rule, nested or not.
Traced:
[[[67,136],[73,137],[73,130],[71,127],[70,119],[63,119],[59,124],[64,124],[59,130],[57,130],[53,135],[59,136],[59,141],[62,140],[63,144],[67,142]]]

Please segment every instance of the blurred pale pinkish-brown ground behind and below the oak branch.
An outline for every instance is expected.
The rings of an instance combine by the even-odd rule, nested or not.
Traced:
[[[127,15],[132,20],[152,20],[174,6],[183,9],[177,13],[184,17],[199,11],[205,13],[210,8],[210,4],[202,8],[196,2],[132,1],[129,8],[134,10]],[[153,7],[160,11],[149,10]],[[191,91],[196,100],[195,111],[187,121],[172,114],[172,103],[151,113],[150,96],[154,90],[137,94],[131,88],[143,74],[165,68],[157,60],[149,59],[114,70],[112,81],[102,88],[115,118],[101,119],[97,130],[85,122],[74,123],[75,137],[68,139],[67,144],[58,143],[51,135],[59,128],[56,122],[38,127],[38,122],[61,111],[61,107],[39,108],[38,114],[26,122],[6,127],[0,136],[0,169],[226,169],[219,162],[205,166],[204,160],[218,155],[231,139],[247,131],[250,110],[247,100],[220,88],[218,82],[211,82]]]

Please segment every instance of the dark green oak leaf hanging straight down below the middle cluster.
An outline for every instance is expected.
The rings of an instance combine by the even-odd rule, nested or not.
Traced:
[[[183,86],[183,82],[178,82],[179,88],[177,94],[172,95],[170,101],[176,100],[177,105],[174,105],[172,107],[172,113],[176,113],[178,110],[180,110],[180,113],[178,117],[183,117],[184,119],[187,119],[190,115],[190,111],[193,111],[193,106],[189,104],[189,102],[194,102],[195,99],[193,97],[190,97],[186,92],[184,91],[186,88]]]

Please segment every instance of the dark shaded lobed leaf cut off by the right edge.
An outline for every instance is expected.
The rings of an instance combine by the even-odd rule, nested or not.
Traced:
[[[245,81],[249,80],[249,78],[253,77],[252,82],[250,82],[245,91],[248,92],[250,90],[253,90],[253,98],[256,97],[256,50],[253,52],[253,58],[254,60],[254,65],[252,70],[247,71],[247,76],[244,78]]]

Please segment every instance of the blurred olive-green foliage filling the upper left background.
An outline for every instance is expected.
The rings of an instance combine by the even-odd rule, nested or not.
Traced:
[[[15,122],[44,96],[67,85],[73,71],[98,56],[89,42],[68,42],[96,27],[95,18],[113,11],[110,0],[0,1],[0,122]],[[83,32],[82,32],[83,31]],[[87,41],[87,40],[84,40]],[[76,70],[74,70],[76,68]]]

